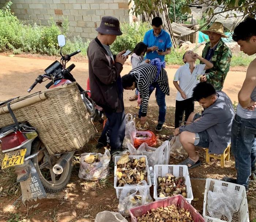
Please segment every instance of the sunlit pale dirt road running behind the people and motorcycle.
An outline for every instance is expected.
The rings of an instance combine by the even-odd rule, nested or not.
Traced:
[[[27,89],[34,83],[35,78],[39,74],[44,73],[53,61],[36,58],[20,58],[0,56],[0,101],[10,99],[15,96],[26,95]],[[71,64],[71,62],[69,62]],[[86,89],[86,82],[88,78],[88,64],[82,62],[74,62],[76,65],[72,71],[78,83]],[[131,70],[131,66],[124,65],[121,75],[127,74]],[[170,96],[166,96],[166,105],[175,106],[176,89],[172,83],[173,76],[177,69],[167,68],[170,84]],[[223,91],[229,95],[232,101],[237,101],[237,94],[245,78],[245,72],[230,71],[227,74]],[[32,92],[41,91],[45,89],[48,83],[38,84]],[[133,95],[132,91],[124,91],[125,106],[135,106],[136,102],[130,102],[128,98]],[[150,98],[150,104],[157,105],[154,96]]]

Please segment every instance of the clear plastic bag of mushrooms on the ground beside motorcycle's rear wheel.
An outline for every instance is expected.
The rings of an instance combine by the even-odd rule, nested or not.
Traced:
[[[84,160],[89,155],[97,155],[99,162],[87,163]],[[80,168],[78,177],[84,180],[96,181],[101,180],[109,175],[110,153],[106,149],[104,154],[101,153],[83,153],[81,154]]]

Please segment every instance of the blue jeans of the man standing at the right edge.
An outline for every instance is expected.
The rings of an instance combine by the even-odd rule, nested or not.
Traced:
[[[237,169],[237,184],[248,188],[251,171],[256,163],[256,119],[236,115],[232,123],[231,150]]]

